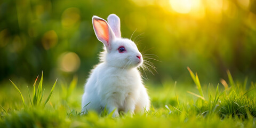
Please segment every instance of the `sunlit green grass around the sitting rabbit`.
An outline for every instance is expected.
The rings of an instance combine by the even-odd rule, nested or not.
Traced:
[[[198,75],[188,70],[194,86],[147,84],[151,109],[116,118],[106,111],[80,115],[83,86],[76,86],[76,76],[70,84],[55,82],[43,91],[42,74],[32,97],[29,87],[11,82],[0,90],[0,127],[256,127],[256,84],[247,83],[247,78],[234,82],[227,71],[228,82],[201,86]]]

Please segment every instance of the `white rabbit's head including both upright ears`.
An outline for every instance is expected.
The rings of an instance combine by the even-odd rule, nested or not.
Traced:
[[[133,41],[121,38],[120,19],[115,14],[108,16],[108,22],[97,16],[92,18],[95,35],[104,44],[101,61],[118,68],[141,66],[143,58]]]

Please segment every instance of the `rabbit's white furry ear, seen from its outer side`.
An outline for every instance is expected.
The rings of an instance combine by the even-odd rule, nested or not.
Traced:
[[[120,31],[120,19],[117,17],[116,14],[108,15],[108,23],[112,28],[113,32],[115,33],[117,38],[121,38],[121,31]]]

